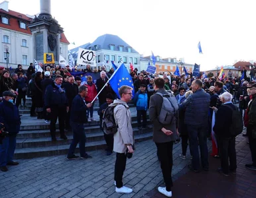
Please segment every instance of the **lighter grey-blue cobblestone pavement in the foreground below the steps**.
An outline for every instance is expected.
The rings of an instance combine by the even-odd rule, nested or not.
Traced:
[[[115,193],[113,172],[115,154],[104,150],[88,152],[92,159],[66,160],[66,156],[49,156],[19,160],[0,172],[0,197],[143,197],[162,183],[157,149],[152,140],[136,143],[133,158],[127,159],[123,182],[133,193]],[[180,172],[189,160],[178,157],[180,143],[174,145],[173,174]]]

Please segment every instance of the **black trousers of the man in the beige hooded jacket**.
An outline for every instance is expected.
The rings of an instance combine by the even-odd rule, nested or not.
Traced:
[[[115,160],[115,182],[117,187],[123,187],[123,172],[125,172],[127,157],[124,153],[117,152],[117,158]]]

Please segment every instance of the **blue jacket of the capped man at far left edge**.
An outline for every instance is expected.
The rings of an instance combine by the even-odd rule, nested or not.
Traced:
[[[17,106],[5,99],[3,99],[3,102],[0,102],[0,123],[3,123],[5,131],[8,131],[9,135],[19,133],[21,126],[19,110]]]

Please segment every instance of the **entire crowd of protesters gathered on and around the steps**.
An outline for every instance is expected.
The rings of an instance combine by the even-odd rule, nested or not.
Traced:
[[[229,176],[230,173],[235,174],[237,168],[235,135],[231,126],[233,112],[236,111],[239,112],[240,117],[243,117],[244,125],[247,127],[247,133],[243,135],[249,137],[253,161],[252,164],[245,164],[245,167],[256,170],[256,84],[254,78],[247,77],[244,70],[242,71],[243,79],[209,77],[201,80],[200,77],[192,77],[192,74],[174,76],[156,73],[151,75],[146,71],[138,73],[135,69],[131,72],[135,96],[133,97],[130,86],[121,86],[120,99],[117,99],[117,94],[107,83],[109,75],[113,75],[113,69],[109,74],[106,73],[105,67],[97,71],[100,72],[99,79],[88,76],[87,82],[84,83],[81,82],[80,77],[70,74],[69,66],[66,68],[58,65],[48,66],[41,73],[35,72],[31,64],[26,75],[22,65],[18,65],[11,76],[9,71],[4,71],[2,68],[0,71],[0,97],[3,97],[3,102],[0,104],[0,123],[4,123],[5,129],[10,132],[9,138],[3,141],[5,147],[0,145],[2,171],[8,170],[7,164],[17,165],[18,163],[13,161],[15,137],[19,133],[21,121],[18,107],[26,106],[26,95],[32,98],[31,116],[37,116],[38,119],[44,119],[45,123],[50,123],[52,141],[57,141],[57,119],[61,139],[67,139],[66,131],[72,130],[73,139],[68,151],[68,160],[78,158],[74,154],[78,143],[80,157],[92,157],[85,150],[84,123],[95,121],[96,96],[99,100],[97,114],[100,123],[102,123],[105,109],[108,106],[117,106],[113,111],[118,125],[117,133],[108,135],[104,133],[107,143],[106,154],[110,155],[113,151],[117,153],[115,162],[117,193],[133,191],[122,183],[126,159],[131,157],[135,150],[131,112],[128,106],[131,101],[137,109],[137,123],[140,130],[149,128],[147,125],[147,112],[149,112],[149,119],[153,123],[153,141],[157,146],[157,156],[166,185],[166,187],[159,187],[159,191],[167,197],[172,196],[172,147],[179,137],[182,145],[180,158],[187,158],[186,152],[189,147],[192,160],[189,165],[190,170],[194,172],[200,172],[201,169],[209,170],[207,139],[211,139],[212,156],[220,158],[218,171],[224,176]],[[86,71],[92,70],[87,67]],[[238,108],[234,105],[237,102]],[[7,108],[15,112],[13,118],[17,123],[15,128],[9,126],[11,118],[3,116],[7,115]],[[101,124],[100,128],[102,129]]]

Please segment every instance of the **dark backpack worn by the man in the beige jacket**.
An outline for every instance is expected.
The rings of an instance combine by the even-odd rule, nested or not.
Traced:
[[[111,104],[105,109],[102,117],[102,128],[105,134],[117,133],[118,125],[115,123],[114,108],[119,104]]]

